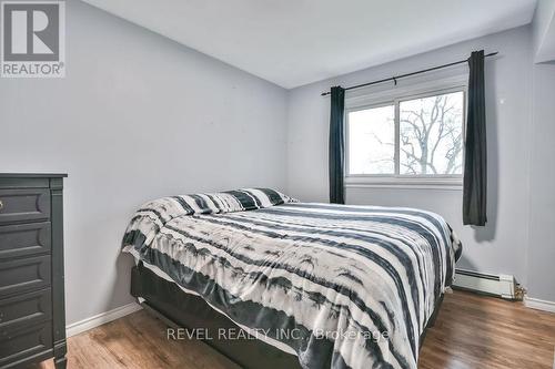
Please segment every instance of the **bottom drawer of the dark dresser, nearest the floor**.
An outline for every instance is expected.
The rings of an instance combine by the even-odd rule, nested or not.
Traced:
[[[52,322],[0,330],[0,368],[52,348]]]

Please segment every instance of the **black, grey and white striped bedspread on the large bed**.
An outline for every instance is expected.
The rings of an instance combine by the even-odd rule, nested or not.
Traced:
[[[303,368],[416,368],[461,245],[413,208],[297,203],[264,188],[164,197],[123,249]]]

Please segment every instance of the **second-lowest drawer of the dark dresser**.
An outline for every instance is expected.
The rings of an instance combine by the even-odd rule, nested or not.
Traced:
[[[0,331],[52,319],[50,288],[0,300]]]

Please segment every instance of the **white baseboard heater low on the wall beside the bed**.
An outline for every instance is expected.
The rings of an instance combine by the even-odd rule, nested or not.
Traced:
[[[472,290],[511,300],[517,298],[515,277],[504,274],[492,275],[456,269],[453,288]]]

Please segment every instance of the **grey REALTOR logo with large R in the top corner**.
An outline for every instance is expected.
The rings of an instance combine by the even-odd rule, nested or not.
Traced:
[[[1,76],[65,75],[65,3],[1,2]]]

